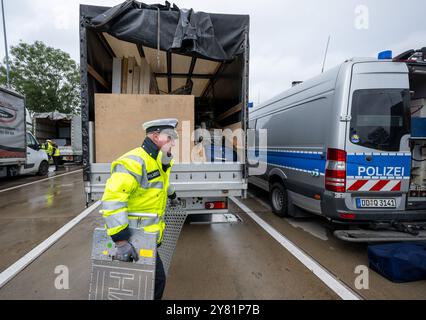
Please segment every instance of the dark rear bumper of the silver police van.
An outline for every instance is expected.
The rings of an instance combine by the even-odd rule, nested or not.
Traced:
[[[348,210],[345,199],[336,199],[334,196],[328,194],[324,194],[323,196],[321,211],[327,218],[345,224],[366,224],[389,221],[426,221],[426,210],[423,209]],[[342,218],[342,215],[351,215],[351,219]]]

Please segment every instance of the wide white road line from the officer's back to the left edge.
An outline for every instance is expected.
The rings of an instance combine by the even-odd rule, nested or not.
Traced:
[[[62,238],[68,231],[74,228],[78,223],[80,223],[84,218],[89,214],[95,211],[101,202],[98,201],[86,210],[84,210],[80,215],[72,219],[61,229],[52,234],[49,238],[40,243],[37,247],[27,253],[24,257],[16,261],[13,265],[7,268],[5,271],[0,273],[0,288],[12,280],[19,272],[25,269],[30,263],[42,255],[47,249],[54,245],[60,238]]]

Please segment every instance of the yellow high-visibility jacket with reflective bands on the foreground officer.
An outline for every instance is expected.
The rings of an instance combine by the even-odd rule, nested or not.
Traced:
[[[148,138],[147,138],[148,139]],[[162,152],[151,155],[144,146],[134,149],[112,163],[102,198],[102,214],[108,235],[118,235],[129,226],[129,220],[139,220],[145,232],[156,233],[158,243],[163,239],[167,198],[174,190],[169,176],[173,162],[166,167],[161,163]],[[114,239],[114,237],[113,237]]]

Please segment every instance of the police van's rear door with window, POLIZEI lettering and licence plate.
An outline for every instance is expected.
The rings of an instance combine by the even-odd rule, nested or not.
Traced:
[[[346,131],[350,209],[405,210],[411,166],[405,143],[410,132],[409,104],[404,64],[353,65]]]

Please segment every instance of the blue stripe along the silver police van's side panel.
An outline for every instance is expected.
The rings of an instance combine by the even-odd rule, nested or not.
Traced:
[[[326,159],[321,154],[298,153],[288,151],[268,151],[261,152],[258,157],[255,156],[254,150],[248,152],[251,161],[262,161],[272,165],[278,165],[295,170],[318,171],[325,173]]]

